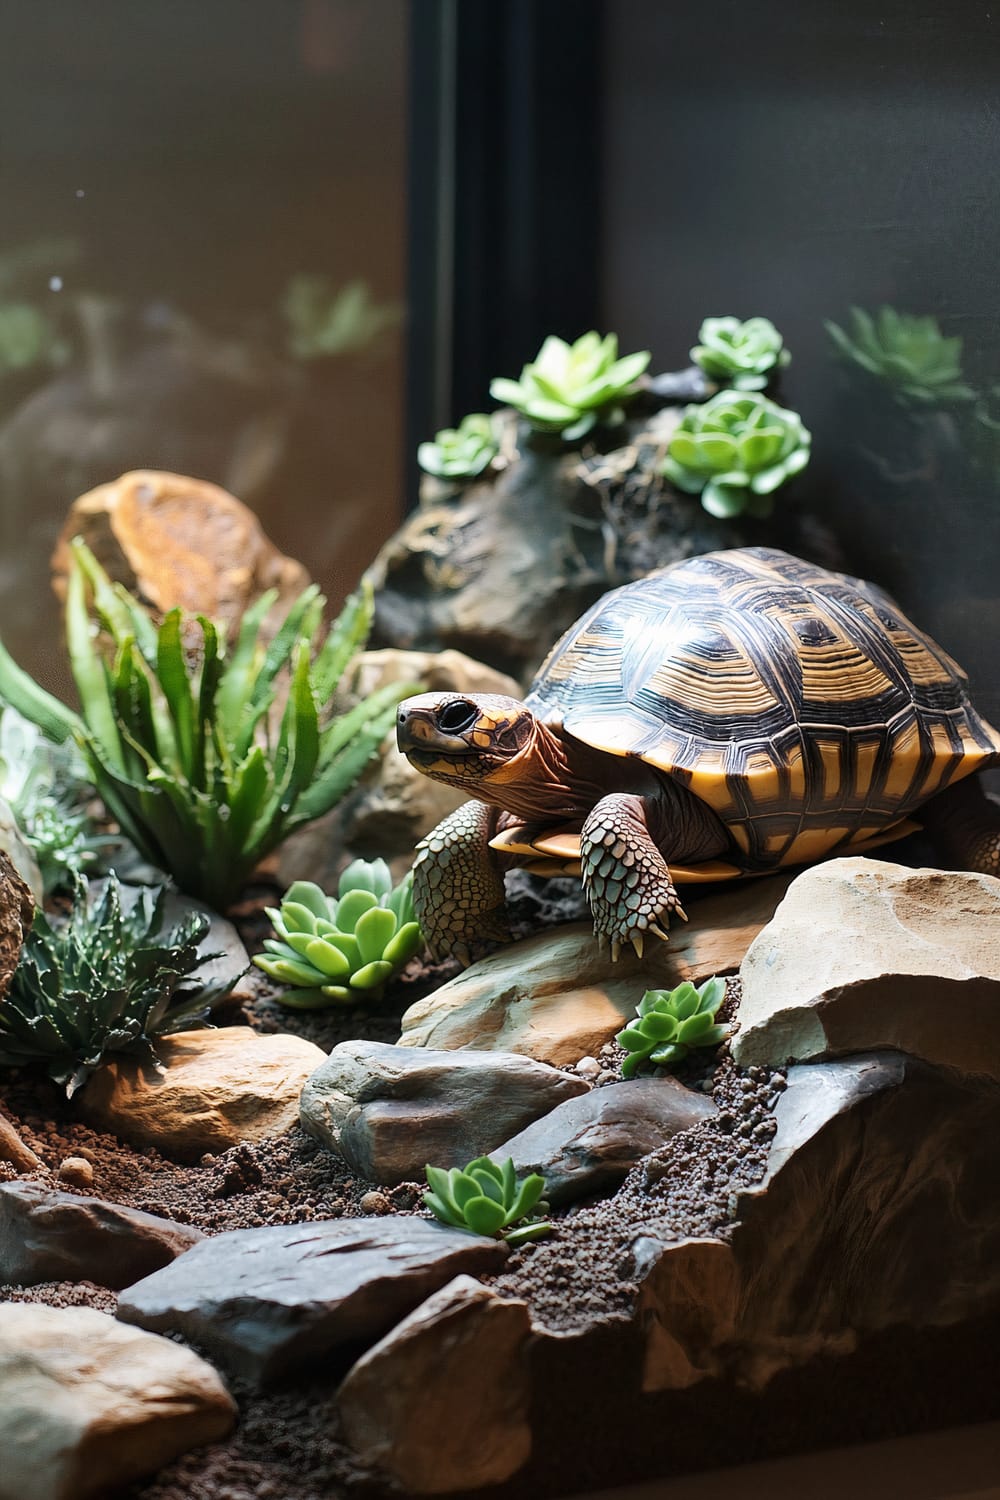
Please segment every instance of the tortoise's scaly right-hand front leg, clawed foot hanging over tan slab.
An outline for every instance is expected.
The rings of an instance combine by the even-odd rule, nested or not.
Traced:
[[[643,938],[667,939],[667,920],[687,916],[648,825],[642,796],[603,796],[580,830],[583,890],[597,940],[612,958],[630,942],[642,958]]]

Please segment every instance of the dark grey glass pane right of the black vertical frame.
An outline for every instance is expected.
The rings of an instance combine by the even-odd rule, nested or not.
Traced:
[[[658,369],[705,315],[778,326],[814,434],[796,504],[1000,722],[996,8],[606,14],[606,326]]]

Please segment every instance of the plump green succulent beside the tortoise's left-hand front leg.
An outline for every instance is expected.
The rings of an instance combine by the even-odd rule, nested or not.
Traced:
[[[408,874],[393,888],[384,860],[355,860],[340,876],[336,898],[312,880],[289,885],[280,910],[267,908],[277,938],[267,938],[267,954],[253,960],[292,987],[280,1004],[312,1011],[376,1000],[385,981],[423,946],[412,884]]]

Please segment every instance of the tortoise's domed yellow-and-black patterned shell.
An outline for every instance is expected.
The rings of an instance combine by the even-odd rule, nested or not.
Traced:
[[[766,548],[606,594],[528,705],[688,786],[745,868],[874,838],[1000,762],[961,669],[882,590]]]

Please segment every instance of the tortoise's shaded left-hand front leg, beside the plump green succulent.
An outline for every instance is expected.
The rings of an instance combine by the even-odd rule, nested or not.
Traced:
[[[436,958],[468,964],[475,948],[510,938],[495,831],[495,807],[463,802],[417,844],[414,910]]]

